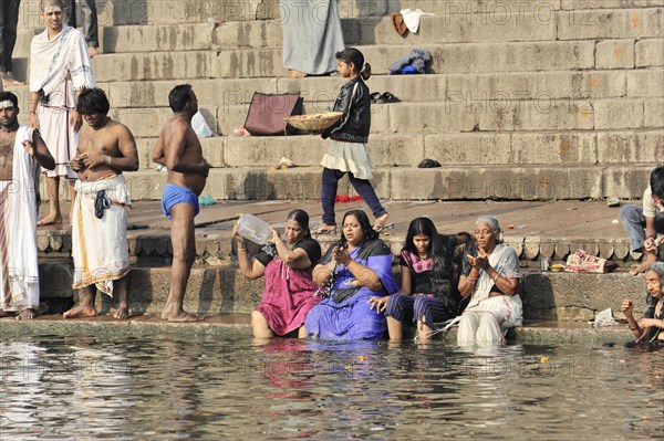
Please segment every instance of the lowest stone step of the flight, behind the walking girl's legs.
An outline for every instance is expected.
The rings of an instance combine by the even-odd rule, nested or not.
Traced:
[[[649,183],[652,162],[622,165],[459,165],[422,169],[376,167],[372,182],[382,200],[571,200],[616,197],[639,199]],[[318,200],[321,167],[272,170],[256,167],[214,168],[204,193],[217,200]],[[414,177],[417,176],[417,179]],[[165,171],[127,174],[134,201],[160,200]],[[42,200],[48,200],[41,182]],[[68,200],[60,188],[60,199]],[[340,181],[339,195],[355,195]]]

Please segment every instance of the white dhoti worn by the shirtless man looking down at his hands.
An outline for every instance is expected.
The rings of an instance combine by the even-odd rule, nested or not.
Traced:
[[[113,296],[113,281],[129,272],[127,249],[127,209],[132,200],[124,176],[94,182],[76,181],[76,199],[72,222],[72,256],[74,258],[74,288],[94,284],[101,292]],[[103,216],[95,211],[97,193]]]

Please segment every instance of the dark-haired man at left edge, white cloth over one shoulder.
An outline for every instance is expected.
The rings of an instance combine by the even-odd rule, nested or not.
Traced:
[[[0,92],[0,317],[31,319],[39,306],[39,166],[52,170],[55,160],[18,115],[17,96]]]

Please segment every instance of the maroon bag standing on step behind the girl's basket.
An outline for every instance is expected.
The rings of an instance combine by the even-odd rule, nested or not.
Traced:
[[[283,118],[302,115],[300,93],[264,94],[255,92],[249,105],[245,128],[252,136],[294,135],[297,129],[288,127]]]

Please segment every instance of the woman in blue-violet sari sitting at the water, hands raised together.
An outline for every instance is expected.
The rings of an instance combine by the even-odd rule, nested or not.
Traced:
[[[330,297],[307,316],[307,334],[322,339],[377,340],[385,334],[385,316],[369,300],[398,291],[392,277],[392,252],[377,238],[362,210],[343,217],[341,240],[330,245],[313,271],[313,281],[330,286]]]

